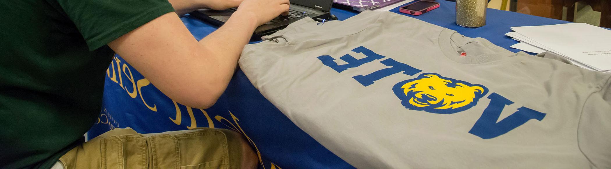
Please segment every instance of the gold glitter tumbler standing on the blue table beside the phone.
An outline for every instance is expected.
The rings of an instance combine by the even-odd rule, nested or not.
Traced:
[[[488,0],[456,0],[456,24],[462,27],[486,25]]]

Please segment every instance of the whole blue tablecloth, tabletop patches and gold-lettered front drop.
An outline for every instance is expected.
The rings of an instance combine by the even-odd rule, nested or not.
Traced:
[[[512,52],[519,50],[511,49],[509,46],[517,42],[504,35],[511,32],[510,27],[566,23],[488,9],[487,25],[469,29],[455,24],[454,2],[437,2],[441,3],[439,9],[420,16],[406,16],[447,27],[469,37],[486,38]],[[398,13],[398,9],[390,11]],[[331,13],[340,20],[357,14],[335,8]],[[197,40],[216,30],[211,24],[188,15],[181,19]],[[243,133],[255,151],[260,153],[260,168],[354,168],[293,124],[252,86],[240,70],[236,71],[216,105],[205,110],[173,102],[119,56],[115,56],[107,75],[103,109],[98,122],[89,131],[90,138],[112,128],[125,127],[131,127],[139,133],[196,127],[229,128]]]

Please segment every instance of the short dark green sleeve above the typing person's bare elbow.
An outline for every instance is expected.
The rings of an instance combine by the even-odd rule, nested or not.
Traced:
[[[79,30],[89,50],[96,50],[125,33],[169,12],[167,0],[57,0]]]

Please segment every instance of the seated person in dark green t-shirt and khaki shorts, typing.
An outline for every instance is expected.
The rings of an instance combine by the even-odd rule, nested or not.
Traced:
[[[100,112],[114,53],[173,100],[209,108],[227,88],[255,28],[288,12],[289,4],[0,1],[0,168],[253,167],[258,160],[247,143],[223,129],[161,134],[117,129],[86,143],[82,135]],[[178,18],[196,9],[238,5],[224,26],[199,42]]]

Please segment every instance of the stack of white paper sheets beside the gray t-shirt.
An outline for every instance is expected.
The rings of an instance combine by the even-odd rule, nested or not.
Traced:
[[[511,27],[505,33],[521,43],[513,48],[533,53],[554,52],[577,66],[611,71],[611,30],[582,23]]]

